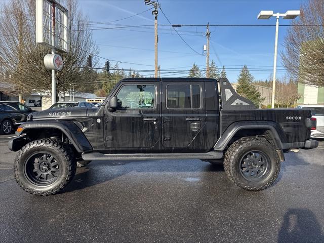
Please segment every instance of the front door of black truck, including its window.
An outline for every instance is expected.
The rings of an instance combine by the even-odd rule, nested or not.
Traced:
[[[160,141],[159,82],[127,82],[118,87],[118,107],[106,109],[105,146],[115,151],[158,150]]]

